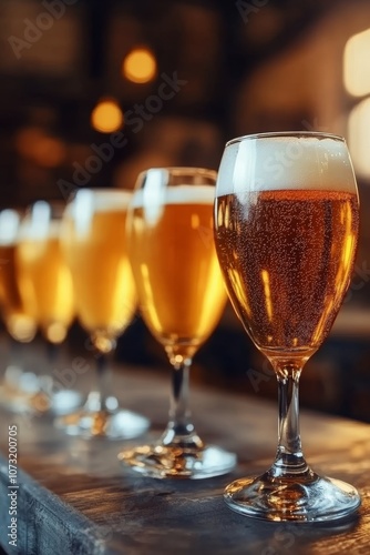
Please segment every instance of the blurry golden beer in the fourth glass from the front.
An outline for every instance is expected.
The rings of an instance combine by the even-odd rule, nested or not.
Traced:
[[[22,239],[17,249],[21,292],[32,294],[35,319],[53,343],[64,340],[74,316],[71,272],[60,245],[60,222],[50,222],[47,236]],[[31,293],[30,293],[31,292]]]

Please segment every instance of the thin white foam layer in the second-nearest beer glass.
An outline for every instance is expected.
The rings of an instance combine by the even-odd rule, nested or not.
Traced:
[[[134,192],[133,208],[165,204],[213,204],[215,188],[213,185],[174,185],[144,188]]]

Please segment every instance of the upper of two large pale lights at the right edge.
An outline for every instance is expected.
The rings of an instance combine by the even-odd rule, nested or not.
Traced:
[[[345,87],[350,94],[370,93],[370,29],[353,34],[346,44],[343,56]]]

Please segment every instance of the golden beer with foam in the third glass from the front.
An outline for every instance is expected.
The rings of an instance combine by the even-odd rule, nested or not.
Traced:
[[[136,309],[127,258],[126,191],[84,191],[71,203],[63,228],[63,251],[72,272],[78,316],[91,333],[117,336]]]

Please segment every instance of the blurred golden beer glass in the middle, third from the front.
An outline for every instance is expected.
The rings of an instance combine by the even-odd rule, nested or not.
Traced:
[[[136,293],[127,258],[126,210],[131,193],[116,189],[81,189],[64,212],[62,250],[72,272],[76,314],[90,335],[99,385],[84,407],[56,421],[68,434],[131,438],[148,421],[119,406],[109,384],[107,365],[136,310]]]

